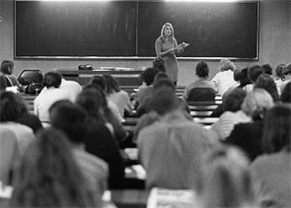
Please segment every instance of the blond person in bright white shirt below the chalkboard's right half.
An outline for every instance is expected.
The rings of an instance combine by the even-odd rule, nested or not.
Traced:
[[[223,94],[232,86],[235,86],[236,82],[233,79],[233,70],[235,70],[234,63],[231,60],[224,58],[219,62],[219,71],[212,78],[211,82],[214,84],[216,93],[219,96]]]

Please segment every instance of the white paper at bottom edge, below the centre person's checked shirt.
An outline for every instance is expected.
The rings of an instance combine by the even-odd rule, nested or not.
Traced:
[[[193,190],[173,190],[165,188],[153,188],[150,190],[147,208],[193,208],[195,193]]]

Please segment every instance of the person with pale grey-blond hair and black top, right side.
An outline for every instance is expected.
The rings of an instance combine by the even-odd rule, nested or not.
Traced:
[[[242,110],[252,117],[252,121],[236,124],[225,142],[241,148],[251,161],[263,154],[261,141],[265,115],[273,105],[273,98],[264,89],[254,89],[247,93],[245,100],[243,100]]]

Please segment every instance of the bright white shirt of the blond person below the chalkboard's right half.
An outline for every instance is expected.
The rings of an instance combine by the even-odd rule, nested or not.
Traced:
[[[234,86],[237,84],[235,80],[233,79],[233,71],[226,70],[223,72],[218,72],[215,74],[215,76],[212,78],[211,82],[213,82],[217,95],[223,96],[223,94],[231,88],[231,86]]]

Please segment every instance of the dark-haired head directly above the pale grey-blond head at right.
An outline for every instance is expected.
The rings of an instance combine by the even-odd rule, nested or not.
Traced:
[[[273,78],[269,74],[261,74],[254,83],[254,89],[261,88],[265,89],[270,93],[274,102],[279,100],[278,90]]]

